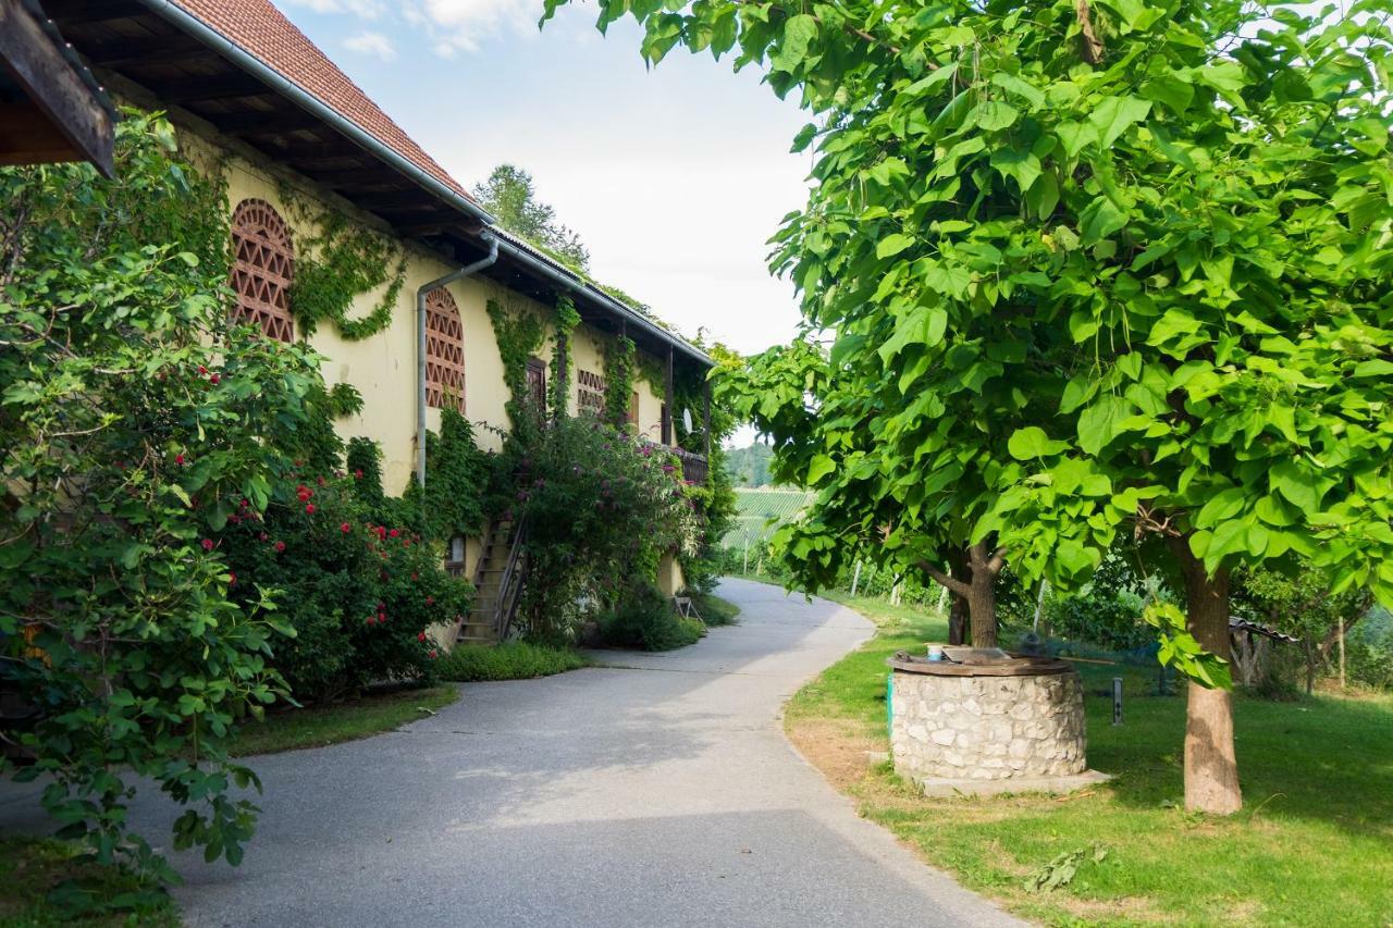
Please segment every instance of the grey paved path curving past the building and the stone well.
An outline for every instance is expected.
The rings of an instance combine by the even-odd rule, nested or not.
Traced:
[[[720,592],[740,624],[691,648],[468,684],[401,732],[255,758],[265,814],[244,864],[176,856],[188,921],[1017,924],[858,818],[783,737],[783,701],[869,623],[762,584]],[[0,825],[15,800],[0,794]],[[137,808],[152,839],[171,818]]]

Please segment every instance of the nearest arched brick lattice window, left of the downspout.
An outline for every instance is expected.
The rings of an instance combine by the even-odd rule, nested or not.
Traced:
[[[280,341],[295,340],[290,281],[295,251],[280,213],[263,199],[244,199],[233,212],[233,290],[237,316]]]

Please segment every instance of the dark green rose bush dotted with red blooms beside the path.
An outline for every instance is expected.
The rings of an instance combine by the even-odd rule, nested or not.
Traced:
[[[376,468],[372,468],[372,474]],[[432,676],[435,623],[468,610],[469,585],[449,577],[421,535],[362,502],[369,479],[302,475],[265,513],[242,507],[216,541],[235,574],[233,598],[279,591],[295,638],[276,667],[299,699],[326,699],[375,680]]]

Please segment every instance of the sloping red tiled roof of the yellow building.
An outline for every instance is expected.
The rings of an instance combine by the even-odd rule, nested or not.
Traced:
[[[400,125],[368,99],[270,0],[174,0],[265,64],[318,96],[378,141],[454,192],[462,187],[417,145]]]

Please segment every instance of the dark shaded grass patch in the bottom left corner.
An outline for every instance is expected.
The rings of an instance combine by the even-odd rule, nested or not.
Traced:
[[[78,853],[77,844],[50,837],[0,837],[0,886],[4,888],[0,892],[0,925],[178,928],[178,910],[167,895],[142,888],[124,871],[77,863],[74,857]],[[71,881],[71,889],[63,890],[67,896],[89,895],[120,911],[78,915],[74,913],[81,907],[75,910],[50,900],[50,890],[67,881]]]

